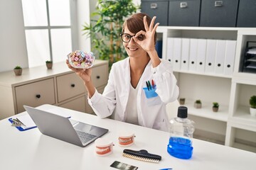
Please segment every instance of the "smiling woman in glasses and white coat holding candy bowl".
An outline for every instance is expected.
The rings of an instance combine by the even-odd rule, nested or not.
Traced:
[[[92,69],[73,69],[84,81],[88,102],[95,114],[106,118],[142,125],[157,130],[168,130],[166,103],[178,98],[178,86],[171,64],[160,60],[155,49],[156,17],[136,13],[124,22],[121,38],[129,57],[112,65],[103,94],[99,94],[91,80]],[[152,86],[152,80],[156,86]],[[151,83],[156,96],[146,98]],[[144,90],[145,88],[146,90]],[[149,86],[150,88],[150,86]]]

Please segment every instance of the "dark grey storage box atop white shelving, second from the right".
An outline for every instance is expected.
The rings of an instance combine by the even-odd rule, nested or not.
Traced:
[[[238,0],[202,0],[200,26],[235,27]]]

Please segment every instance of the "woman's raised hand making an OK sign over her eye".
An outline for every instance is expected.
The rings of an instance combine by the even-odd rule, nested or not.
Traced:
[[[154,26],[154,21],[156,20],[156,16],[154,16],[151,20],[150,25],[146,22],[146,16],[144,16],[144,30],[140,30],[134,37],[134,42],[136,42],[139,46],[141,46],[146,52],[151,52],[155,50],[155,44],[154,44],[154,34],[156,33],[156,28],[159,26],[159,23],[156,23]],[[139,40],[138,36],[144,35],[144,40]]]

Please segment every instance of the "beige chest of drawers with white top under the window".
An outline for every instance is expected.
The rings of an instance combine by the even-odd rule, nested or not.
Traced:
[[[98,91],[104,90],[107,79],[108,62],[95,60],[92,81]],[[93,113],[82,80],[65,62],[54,63],[53,69],[23,69],[21,76],[15,76],[13,71],[1,72],[0,94],[0,120],[23,112],[23,105],[36,107],[45,103]]]

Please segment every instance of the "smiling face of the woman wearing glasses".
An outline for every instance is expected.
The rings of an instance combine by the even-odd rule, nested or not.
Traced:
[[[135,35],[128,30],[127,26],[124,27],[124,33],[129,35]],[[129,57],[142,57],[146,56],[146,51],[142,49],[136,42],[134,42],[133,38],[129,42],[123,42],[124,48],[127,51],[127,55]]]

